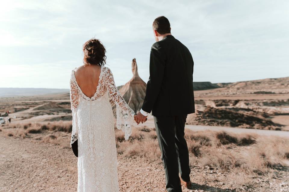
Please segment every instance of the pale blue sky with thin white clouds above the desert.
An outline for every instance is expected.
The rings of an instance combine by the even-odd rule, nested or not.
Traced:
[[[152,22],[166,16],[190,50],[194,81],[236,82],[289,76],[289,1],[3,1],[0,87],[69,88],[82,45],[98,38],[117,86],[147,82]],[[172,77],[174,78],[174,77]]]

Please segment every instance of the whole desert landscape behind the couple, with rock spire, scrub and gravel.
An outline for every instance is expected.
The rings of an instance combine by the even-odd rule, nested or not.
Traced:
[[[132,73],[119,89],[137,112],[146,84],[135,59]],[[289,191],[289,77],[195,82],[194,90],[185,135],[194,184],[183,191]],[[76,191],[69,90],[1,97],[0,114],[0,191]],[[120,191],[166,191],[153,117],[128,141],[115,131]]]

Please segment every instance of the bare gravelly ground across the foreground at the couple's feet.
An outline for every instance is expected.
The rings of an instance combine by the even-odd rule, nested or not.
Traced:
[[[59,133],[59,137],[67,137],[68,143],[69,134]],[[76,191],[77,158],[71,149],[43,143],[39,139],[41,134],[34,135],[23,139],[0,132],[0,191]],[[119,155],[118,173],[121,192],[166,191],[161,161]],[[234,177],[236,179],[232,179]],[[289,167],[284,166],[274,167],[265,175],[251,177],[249,183],[254,188],[247,185],[234,187],[248,179],[242,173],[238,175],[198,164],[191,165],[191,179],[193,189],[183,188],[183,191],[289,191]]]

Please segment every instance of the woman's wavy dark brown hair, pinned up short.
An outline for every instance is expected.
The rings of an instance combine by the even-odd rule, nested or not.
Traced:
[[[92,38],[85,42],[83,45],[83,64],[87,65],[100,65],[104,66],[106,63],[106,50],[102,45],[101,41]]]

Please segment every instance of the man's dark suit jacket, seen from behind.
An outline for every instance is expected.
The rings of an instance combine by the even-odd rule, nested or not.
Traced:
[[[195,112],[194,61],[188,48],[172,35],[151,47],[150,78],[141,107],[153,116]]]

